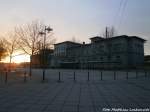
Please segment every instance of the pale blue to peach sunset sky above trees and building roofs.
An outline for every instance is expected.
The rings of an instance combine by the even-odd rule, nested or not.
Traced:
[[[57,42],[72,37],[88,42],[106,26],[150,40],[150,0],[0,0],[0,14],[0,34],[40,20],[54,29]]]

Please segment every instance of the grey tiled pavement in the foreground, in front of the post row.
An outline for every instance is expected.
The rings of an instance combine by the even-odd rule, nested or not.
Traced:
[[[0,112],[103,112],[111,108],[150,109],[150,79],[0,86]]]

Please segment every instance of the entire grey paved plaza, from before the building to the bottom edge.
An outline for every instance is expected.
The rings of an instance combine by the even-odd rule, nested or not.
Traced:
[[[130,71],[128,79],[126,72],[102,74],[101,80],[101,71],[47,70],[42,82],[42,71],[33,70],[26,82],[14,72],[5,83],[1,73],[0,112],[150,111],[149,73]]]

